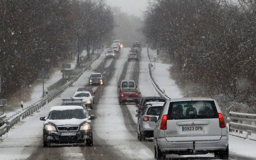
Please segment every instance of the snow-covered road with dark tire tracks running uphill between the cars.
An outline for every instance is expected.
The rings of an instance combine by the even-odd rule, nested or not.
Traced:
[[[149,79],[146,49],[142,49],[139,62],[128,62],[128,51],[129,48],[123,48],[121,53],[117,53],[116,59],[105,59],[103,53],[92,64],[92,68],[84,72],[73,84],[73,87],[68,88],[39,112],[13,127],[8,137],[0,144],[0,159],[154,159],[152,138],[144,142],[137,140],[137,117],[135,117],[137,107],[134,104],[118,103],[117,86],[122,79],[134,79],[142,96],[158,96]],[[94,109],[89,112],[89,115],[96,116],[96,119],[92,120],[93,146],[51,144],[51,147],[44,148],[43,121],[39,120],[40,116],[45,116],[50,107],[60,105],[61,99],[69,98],[79,87],[88,85],[88,77],[93,72],[101,72],[105,76],[104,86],[93,87],[96,92],[95,104]],[[167,86],[163,87],[168,90]],[[181,96],[177,87],[172,86],[168,92]],[[229,143],[230,159],[255,159],[255,141],[230,136]],[[172,160],[216,159],[211,153],[166,157]]]

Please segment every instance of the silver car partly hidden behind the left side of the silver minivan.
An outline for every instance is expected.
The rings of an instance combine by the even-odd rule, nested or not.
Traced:
[[[150,122],[149,118],[155,116],[159,117],[164,102],[159,104],[148,104],[142,111],[136,110],[138,113],[136,117],[138,120],[138,140],[145,140],[146,137],[153,137],[155,122]]]

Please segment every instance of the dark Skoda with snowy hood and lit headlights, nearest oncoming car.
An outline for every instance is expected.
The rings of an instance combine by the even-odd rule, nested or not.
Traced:
[[[51,107],[43,127],[44,147],[51,143],[73,144],[84,143],[92,146],[92,124],[94,115],[88,116],[81,106],[55,106]]]

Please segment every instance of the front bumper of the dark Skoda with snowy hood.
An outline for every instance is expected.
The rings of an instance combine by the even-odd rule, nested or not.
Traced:
[[[81,130],[75,132],[75,136],[61,136],[61,132],[49,131],[45,133],[45,136],[50,143],[56,144],[83,143],[85,140],[91,140],[92,131]]]

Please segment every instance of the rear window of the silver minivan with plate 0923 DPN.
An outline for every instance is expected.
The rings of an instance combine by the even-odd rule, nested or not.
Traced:
[[[218,118],[214,101],[171,102],[167,119],[207,119]]]

